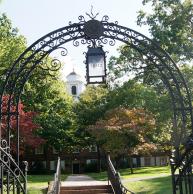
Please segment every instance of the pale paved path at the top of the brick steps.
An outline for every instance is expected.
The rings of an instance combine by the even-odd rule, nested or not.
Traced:
[[[61,186],[90,186],[107,184],[107,181],[96,181],[93,178],[84,174],[70,175],[65,181],[61,182]]]

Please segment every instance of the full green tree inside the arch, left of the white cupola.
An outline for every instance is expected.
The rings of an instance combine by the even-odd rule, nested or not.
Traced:
[[[50,77],[36,82],[37,79],[35,76],[27,83],[23,99],[28,109],[38,112],[35,120],[40,126],[38,135],[46,140],[46,147],[51,145],[58,151],[70,149],[76,141],[72,98],[65,92],[63,82]]]

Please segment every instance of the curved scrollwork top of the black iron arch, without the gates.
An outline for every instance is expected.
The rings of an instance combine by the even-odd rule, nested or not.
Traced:
[[[72,41],[74,46],[87,44],[88,46],[115,45],[115,41],[121,41],[145,56],[147,66],[157,70],[166,85],[174,110],[174,119],[180,120],[185,128],[187,119],[190,118],[191,127],[193,123],[191,97],[186,82],[175,62],[155,42],[148,37],[130,28],[118,25],[117,22],[108,21],[104,16],[101,21],[92,18],[86,21],[83,16],[79,17],[78,23],[70,23],[68,26],[59,28],[28,47],[7,71],[6,78],[1,90],[1,104],[4,95],[9,95],[7,112],[7,131],[10,134],[11,106],[16,104],[18,115],[18,103],[26,81],[36,68],[52,72],[60,68],[60,61],[53,59],[51,66],[46,66],[44,60],[49,58],[50,53],[56,49],[61,50],[61,55],[67,55],[65,44]],[[1,111],[1,110],[0,110]],[[2,113],[0,112],[2,119]],[[18,117],[17,117],[18,119]],[[19,126],[18,126],[19,141]],[[193,131],[193,128],[192,128]],[[182,130],[182,133],[184,131]],[[182,134],[186,136],[186,134]],[[8,135],[8,145],[10,138]],[[19,147],[18,147],[19,150]],[[19,151],[18,151],[19,152]],[[19,154],[17,163],[19,164]]]

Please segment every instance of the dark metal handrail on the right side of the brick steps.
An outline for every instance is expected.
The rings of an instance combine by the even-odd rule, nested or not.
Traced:
[[[120,175],[115,170],[109,154],[107,155],[107,174],[115,194],[134,194],[121,183]]]

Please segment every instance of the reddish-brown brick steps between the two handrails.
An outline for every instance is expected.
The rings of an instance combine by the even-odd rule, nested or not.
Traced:
[[[60,188],[60,194],[112,194],[110,185],[66,186]]]

